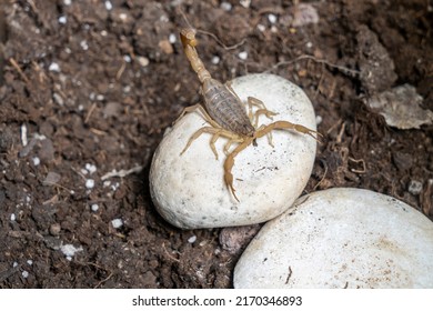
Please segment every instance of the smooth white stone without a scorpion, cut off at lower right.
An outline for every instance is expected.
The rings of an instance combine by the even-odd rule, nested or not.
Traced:
[[[234,269],[235,288],[432,288],[433,222],[361,189],[296,200],[268,222]]]

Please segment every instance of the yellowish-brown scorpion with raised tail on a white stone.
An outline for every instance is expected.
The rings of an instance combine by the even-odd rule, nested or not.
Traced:
[[[203,127],[191,136],[180,156],[182,156],[191,143],[202,133],[210,133],[212,134],[210,147],[218,160],[215,142],[220,137],[226,138],[228,142],[223,148],[223,151],[226,154],[226,159],[224,161],[224,182],[234,199],[239,202],[233,187],[232,168],[234,165],[234,158],[242,150],[250,144],[256,146],[256,139],[264,136],[268,136],[269,143],[273,147],[271,131],[276,129],[295,130],[298,132],[309,134],[318,141],[318,138],[321,134],[301,124],[291,123],[289,121],[275,121],[268,126],[263,124],[258,127],[259,116],[264,114],[269,119],[272,119],[272,117],[276,113],[268,110],[261,100],[253,97],[248,97],[246,99],[249,106],[249,112],[246,112],[242,100],[232,89],[231,82],[229,81],[225,84],[221,83],[220,81],[213,79],[210,72],[204,68],[204,64],[199,58],[195,49],[198,46],[195,30],[191,28],[182,29],[180,32],[180,39],[183,51],[201,82],[200,92],[204,99],[204,104],[197,103],[184,108],[178,120],[185,113],[199,110],[202,118],[210,124],[210,127]],[[253,107],[258,108],[255,113],[252,113]],[[232,152],[229,153],[229,149],[233,142],[238,142],[239,144]]]

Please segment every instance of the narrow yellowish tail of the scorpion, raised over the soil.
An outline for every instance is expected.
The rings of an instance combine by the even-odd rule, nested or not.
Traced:
[[[195,30],[193,30],[192,28],[184,28],[180,32],[180,38],[182,41],[183,51],[185,52],[185,56],[190,61],[192,69],[199,76],[200,82],[203,83],[204,80],[211,79],[211,74],[204,68],[204,64],[199,58],[199,54],[195,50],[195,47],[198,44],[195,39]]]

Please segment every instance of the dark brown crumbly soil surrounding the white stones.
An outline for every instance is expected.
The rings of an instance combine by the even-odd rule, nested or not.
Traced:
[[[308,93],[324,142],[305,192],[370,189],[433,219],[433,127],[390,128],[363,103],[410,83],[433,109],[430,1],[302,1],[318,23],[294,23],[288,0],[226,1],[230,11],[216,0],[104,2],[0,4],[0,288],[232,287],[242,249],[220,234],[233,232],[173,228],[149,195],[164,129],[200,99],[169,40],[185,19],[202,30],[214,78],[268,71]],[[113,170],[127,172],[102,180]],[[71,260],[67,244],[79,249]]]

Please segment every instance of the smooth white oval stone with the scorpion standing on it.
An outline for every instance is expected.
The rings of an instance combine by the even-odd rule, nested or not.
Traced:
[[[273,121],[286,120],[315,130],[313,107],[305,93],[273,74],[251,74],[232,81],[245,100],[254,97],[278,112]],[[264,116],[260,123],[272,121]],[[260,223],[284,212],[303,191],[314,162],[316,141],[295,131],[273,131],[272,148],[265,137],[235,158],[232,169],[238,202],[224,184],[223,147],[216,143],[219,160],[202,134],[180,156],[190,137],[207,126],[198,112],[185,114],[165,132],[150,171],[150,189],[158,211],[183,229],[233,227]]]

